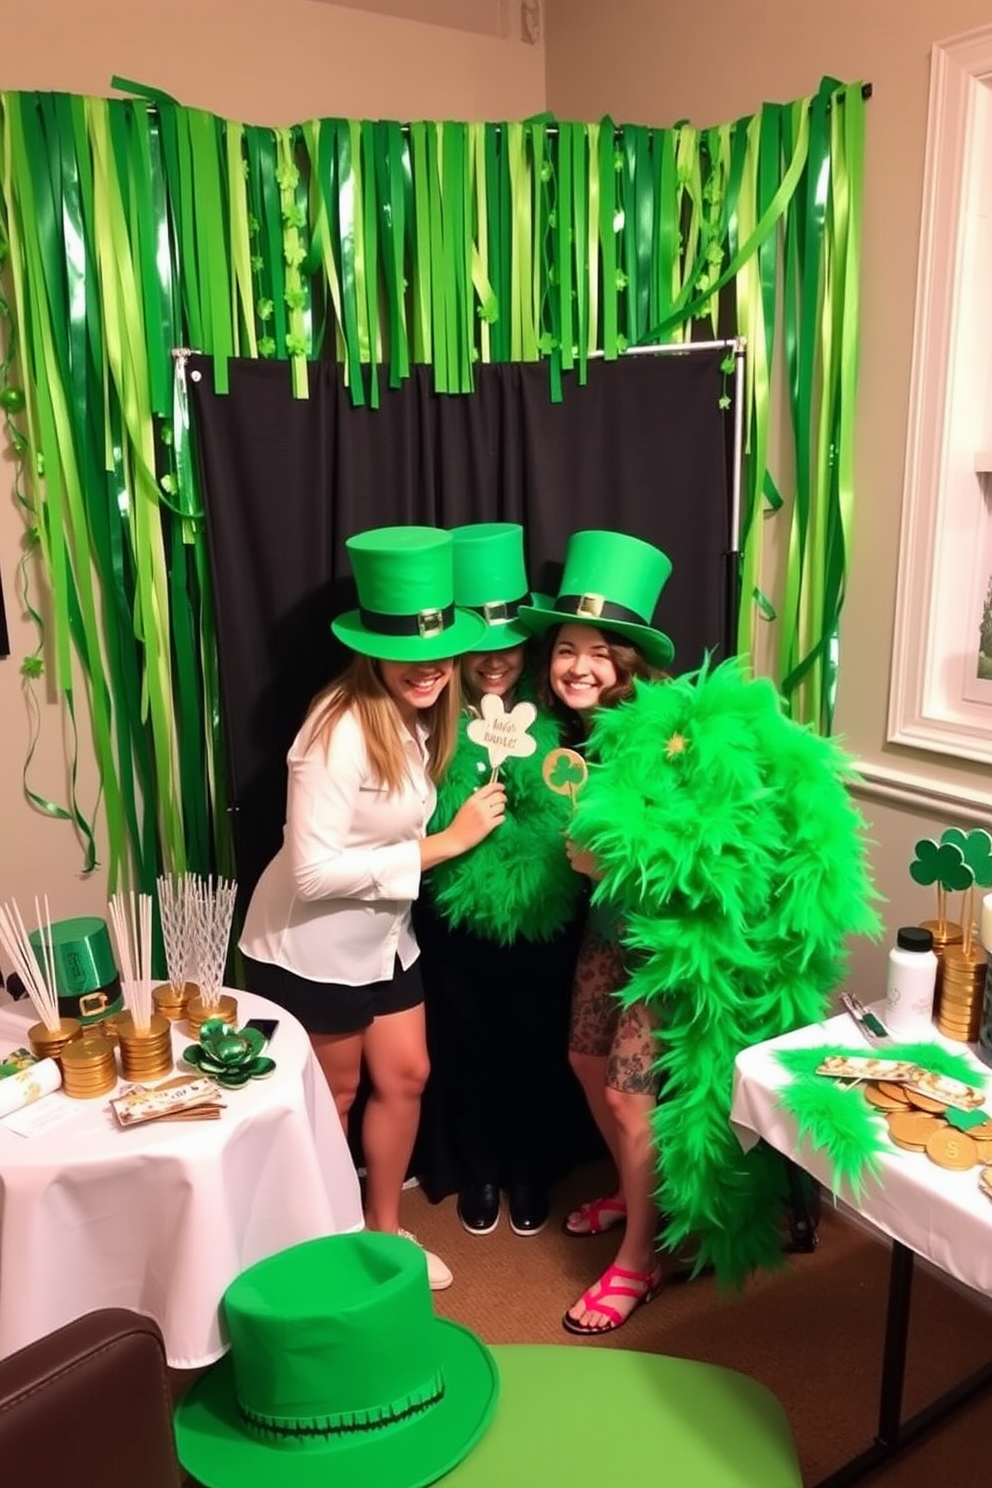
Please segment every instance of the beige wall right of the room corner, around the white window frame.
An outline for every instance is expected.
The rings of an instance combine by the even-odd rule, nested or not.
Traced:
[[[913,842],[961,820],[955,796],[985,802],[977,765],[894,750],[885,743],[909,379],[916,296],[930,51],[992,22],[988,0],[748,0],[675,6],[656,0],[547,0],[547,106],[559,118],[696,125],[754,113],[764,100],[812,92],[819,79],[863,79],[869,103],[863,247],[863,335],[857,411],[857,507],[851,585],[842,622],[837,729],[869,775],[894,775],[918,809],[869,786],[889,930],[925,918],[912,884]],[[946,793],[940,802],[930,793]],[[992,815],[989,818],[992,821]],[[885,948],[858,946],[854,975],[877,987]]]

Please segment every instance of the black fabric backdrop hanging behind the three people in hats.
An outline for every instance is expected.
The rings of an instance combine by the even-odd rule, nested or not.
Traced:
[[[190,359],[242,902],[281,841],[289,744],[347,661],[329,620],[354,603],[352,533],[519,521],[531,583],[550,594],[573,531],[632,533],[674,564],[656,623],[675,641],[675,670],[727,653],[723,359],[593,360],[586,387],[565,378],[561,403],[541,365],[479,366],[471,396],[439,396],[430,368],[415,368],[376,411],[352,406],[332,363],[312,363],[309,399],[294,399],[281,363],[232,362],[217,396],[210,359]]]

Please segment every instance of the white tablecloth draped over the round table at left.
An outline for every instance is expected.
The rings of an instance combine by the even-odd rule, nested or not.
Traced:
[[[61,1091],[45,1101],[68,1101],[64,1125],[22,1137],[0,1120],[0,1357],[94,1308],[126,1306],[159,1323],[174,1367],[208,1364],[226,1347],[217,1305],[245,1266],[361,1228],[306,1033],[281,1007],[235,995],[239,1024],[278,1018],[277,1070],[226,1091],[220,1120],[122,1131],[110,1097]],[[27,1045],[34,1021],[27,1003],[0,1007],[0,1055]],[[174,1025],[175,1055],[189,1043]]]

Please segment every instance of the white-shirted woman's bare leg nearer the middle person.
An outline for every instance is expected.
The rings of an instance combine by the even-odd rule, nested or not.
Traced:
[[[364,1031],[364,1056],[372,1080],[361,1123],[366,1223],[396,1234],[428,1073],[424,1004],[373,1018]]]

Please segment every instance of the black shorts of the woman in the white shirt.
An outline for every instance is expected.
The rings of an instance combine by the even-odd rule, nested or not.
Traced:
[[[424,1001],[419,960],[406,970],[397,960],[393,970],[388,982],[345,987],[342,982],[311,982],[281,966],[244,957],[245,990],[286,1007],[306,1033],[361,1033],[373,1018],[419,1007]]]

